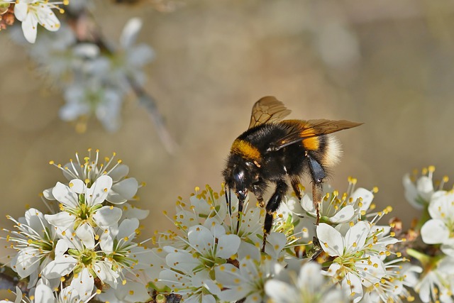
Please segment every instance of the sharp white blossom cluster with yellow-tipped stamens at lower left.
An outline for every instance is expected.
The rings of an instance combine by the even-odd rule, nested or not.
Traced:
[[[28,278],[35,299],[40,294],[58,300],[52,290],[59,287],[58,295],[77,302],[95,295],[131,302],[150,298],[140,276],[148,275],[152,250],[136,240],[148,211],[128,203],[140,184],[113,158],[102,161],[99,150],[95,155],[89,150],[82,161],[78,154],[66,165],[51,161],[68,180],[43,192],[51,214],[28,209],[23,218],[9,217],[16,229],[4,229],[5,239],[17,250],[9,265]]]

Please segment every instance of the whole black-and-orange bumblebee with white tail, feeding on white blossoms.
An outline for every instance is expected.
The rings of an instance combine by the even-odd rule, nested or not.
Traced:
[[[289,191],[288,182],[301,199],[299,183],[304,175],[311,178],[316,225],[319,224],[322,183],[342,153],[340,143],[330,134],[362,124],[346,120],[282,120],[290,112],[275,97],[263,97],[255,102],[249,128],[233,141],[223,170],[230,212],[231,197],[227,195],[230,189],[238,197],[237,229],[249,192],[257,197],[260,206],[266,208],[262,250],[275,211]],[[263,194],[270,184],[275,184],[275,192],[265,204]]]

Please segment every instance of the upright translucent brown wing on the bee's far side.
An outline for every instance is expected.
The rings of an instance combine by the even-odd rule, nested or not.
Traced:
[[[276,97],[267,96],[255,102],[253,112],[250,116],[249,128],[264,123],[272,123],[282,120],[292,111],[287,109],[284,104]]]

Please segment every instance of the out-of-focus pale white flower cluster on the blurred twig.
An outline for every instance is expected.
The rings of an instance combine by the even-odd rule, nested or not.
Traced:
[[[75,9],[68,7],[69,11]],[[60,27],[33,45],[26,45],[20,35],[13,38],[28,46],[38,69],[62,90],[65,105],[60,119],[76,122],[76,130],[84,132],[89,117],[95,116],[106,130],[116,131],[121,125],[123,100],[143,86],[143,67],[154,57],[149,45],[135,44],[142,21],[132,18],[126,23],[116,48],[112,43],[108,47],[104,41],[81,38],[65,23]]]

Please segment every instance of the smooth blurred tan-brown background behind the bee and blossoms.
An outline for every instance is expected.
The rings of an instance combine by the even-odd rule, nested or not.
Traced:
[[[38,194],[65,180],[49,160],[64,164],[99,148],[146,182],[137,202],[151,210],[143,234],[170,228],[162,211],[172,214],[178,196],[205,184],[220,189],[231,143],[265,95],[284,101],[292,119],[364,122],[338,133],[344,155],[330,182],[341,192],[348,176],[358,187],[377,186],[377,206],[393,206],[406,227],[418,216],[404,199],[406,172],[436,165],[438,179],[454,180],[454,1],[193,0],[167,13],[146,1],[96,7],[111,40],[132,16],[143,19],[138,41],[156,53],[145,88],[177,149],[165,150],[133,96],[118,132],[94,120],[86,133],[74,131],[58,118],[60,92],[2,31],[1,214],[18,218],[26,205],[44,211]],[[11,226],[5,216],[0,225]]]

